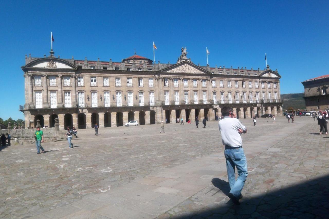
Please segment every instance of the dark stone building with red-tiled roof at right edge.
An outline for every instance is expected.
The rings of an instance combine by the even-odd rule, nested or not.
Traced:
[[[329,109],[329,75],[322,75],[302,82],[306,110]]]

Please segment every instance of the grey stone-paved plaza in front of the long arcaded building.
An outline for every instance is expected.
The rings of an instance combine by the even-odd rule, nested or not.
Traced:
[[[78,131],[67,141],[0,148],[1,218],[326,218],[328,135],[308,116],[244,119],[249,175],[240,206],[218,121]]]

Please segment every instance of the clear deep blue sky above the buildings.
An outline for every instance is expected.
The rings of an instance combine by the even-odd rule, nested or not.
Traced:
[[[232,2],[232,3],[231,3]],[[233,3],[234,2],[234,3]],[[281,93],[329,74],[329,1],[1,1],[0,117],[23,118],[25,54],[121,61],[134,54],[176,63],[278,69]]]

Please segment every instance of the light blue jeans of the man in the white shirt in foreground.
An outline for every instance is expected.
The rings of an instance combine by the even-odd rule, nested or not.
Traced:
[[[226,159],[228,182],[231,188],[230,193],[239,198],[244,182],[248,176],[246,156],[244,155],[243,148],[225,149],[224,154]],[[237,167],[239,174],[237,180],[235,180],[235,167]]]

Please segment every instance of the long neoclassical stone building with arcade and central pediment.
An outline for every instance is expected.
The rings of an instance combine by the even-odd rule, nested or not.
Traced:
[[[195,117],[215,120],[223,106],[238,118],[257,113],[282,114],[281,76],[277,70],[200,66],[186,56],[175,64],[153,63],[133,55],[121,62],[25,56],[25,104],[20,106],[26,127],[79,129],[122,126],[131,120],[140,125],[175,123]]]

